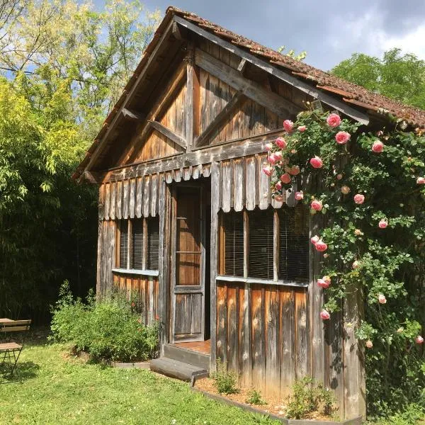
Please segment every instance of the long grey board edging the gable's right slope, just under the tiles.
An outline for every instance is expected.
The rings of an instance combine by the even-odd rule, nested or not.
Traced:
[[[270,62],[266,62],[264,60],[259,59],[259,57],[256,57],[252,55],[251,53],[246,52],[242,48],[237,47],[236,45],[230,42],[222,40],[222,38],[217,37],[217,35],[209,33],[203,28],[200,28],[196,26],[195,24],[189,21],[186,21],[186,19],[183,19],[180,16],[174,16],[174,21],[179,23],[179,25],[185,28],[188,28],[188,30],[191,30],[193,33],[196,33],[203,38],[207,38],[208,40],[212,41],[216,45],[219,45],[220,47],[222,47],[223,49],[228,50],[229,52],[232,52],[235,55],[238,55],[239,57],[246,59],[251,64],[254,64],[256,67],[263,69],[263,71],[274,75],[278,79],[285,81],[286,83],[296,87],[300,91],[303,91],[304,93],[307,93],[310,96],[319,99],[319,101],[322,101],[323,103],[326,103],[332,108],[335,108],[336,110],[344,113],[345,115],[348,115],[349,117],[353,118],[359,123],[368,125],[369,123],[368,115],[366,115],[365,113],[362,113],[361,111],[357,111],[355,108],[351,108],[351,106],[346,105],[344,101],[339,101],[338,99],[323,93],[317,88],[310,86],[310,84],[307,84],[307,82],[300,81],[299,79],[293,77],[287,72],[284,72],[281,69],[273,67],[273,64],[270,64]]]

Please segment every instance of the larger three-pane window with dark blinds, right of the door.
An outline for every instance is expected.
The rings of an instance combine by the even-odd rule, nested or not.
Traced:
[[[231,211],[220,220],[220,275],[308,283],[309,229],[303,205]]]

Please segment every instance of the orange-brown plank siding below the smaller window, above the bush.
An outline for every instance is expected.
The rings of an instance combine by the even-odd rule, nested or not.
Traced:
[[[159,280],[157,276],[134,276],[125,273],[113,273],[115,288],[125,293],[135,302],[144,324],[152,324],[160,319],[158,306]]]

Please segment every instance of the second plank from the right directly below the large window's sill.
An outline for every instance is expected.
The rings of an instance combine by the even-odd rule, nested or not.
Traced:
[[[291,288],[279,290],[280,396],[290,394],[295,380],[295,297]]]

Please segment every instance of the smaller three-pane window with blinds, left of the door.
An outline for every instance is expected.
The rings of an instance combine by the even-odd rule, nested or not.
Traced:
[[[159,268],[159,217],[120,220],[117,265],[131,270]]]

